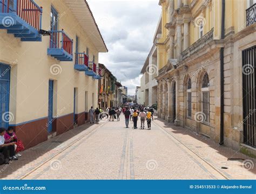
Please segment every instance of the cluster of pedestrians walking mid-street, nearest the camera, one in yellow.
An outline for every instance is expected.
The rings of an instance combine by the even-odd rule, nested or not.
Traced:
[[[125,109],[125,110],[124,110]],[[137,129],[137,123],[140,118],[140,129],[145,129],[145,121],[147,122],[147,130],[151,130],[151,120],[153,120],[153,109],[152,108],[133,108],[125,107],[123,109],[125,116],[126,128],[129,127],[129,121],[133,121],[133,128]],[[139,110],[140,109],[140,110]]]

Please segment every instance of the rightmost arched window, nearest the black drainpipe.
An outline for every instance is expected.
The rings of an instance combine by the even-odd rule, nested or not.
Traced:
[[[202,92],[202,112],[204,113],[204,121],[203,123],[210,123],[210,82],[209,82],[209,77],[208,74],[205,73],[202,81],[202,87],[201,87],[201,92]]]

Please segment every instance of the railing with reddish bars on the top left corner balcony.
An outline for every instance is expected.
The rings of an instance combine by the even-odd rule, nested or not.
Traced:
[[[0,13],[16,13],[38,31],[42,25],[42,12],[43,8],[33,0],[0,0]]]

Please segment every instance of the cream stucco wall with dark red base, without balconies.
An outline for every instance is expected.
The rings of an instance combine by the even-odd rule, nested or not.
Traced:
[[[43,7],[43,30],[51,29],[51,8],[58,12],[57,28],[64,29],[73,40],[74,59],[59,61],[48,55],[50,36],[42,37],[42,41],[21,41],[6,30],[0,30],[0,63],[11,67],[8,123],[15,127],[26,148],[47,140],[53,133],[58,135],[85,123],[90,107],[98,104],[98,80],[74,69],[75,52],[76,49],[78,52],[87,50],[89,61],[96,64],[98,53],[107,52],[103,39],[89,36],[94,32],[101,37],[85,1],[76,2],[86,14],[84,23],[75,16],[77,10],[73,3],[35,2]],[[85,30],[85,26],[90,26],[91,30]],[[79,41],[75,41],[76,37]],[[53,81],[52,121],[49,121],[49,80]],[[51,131],[48,130],[49,122],[52,123]]]

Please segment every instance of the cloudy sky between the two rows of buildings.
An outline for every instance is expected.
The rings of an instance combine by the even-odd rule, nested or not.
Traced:
[[[106,65],[129,95],[140,85],[140,70],[153,44],[160,17],[158,0],[87,0],[103,35],[108,53],[100,53]]]

